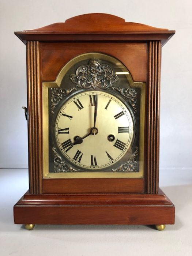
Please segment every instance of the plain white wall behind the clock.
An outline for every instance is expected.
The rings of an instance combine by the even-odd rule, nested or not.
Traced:
[[[0,0],[0,167],[28,166],[26,49],[14,31],[103,12],[176,30],[162,48],[160,168],[192,169],[191,11],[191,0]]]

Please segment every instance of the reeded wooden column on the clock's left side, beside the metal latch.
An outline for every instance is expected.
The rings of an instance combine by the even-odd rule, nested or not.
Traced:
[[[27,109],[30,193],[42,193],[42,96],[39,42],[27,42]]]

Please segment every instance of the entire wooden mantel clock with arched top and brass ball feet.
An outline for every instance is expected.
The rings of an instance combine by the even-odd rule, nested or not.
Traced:
[[[161,47],[174,33],[108,14],[15,32],[29,136],[16,224],[174,223],[158,187]]]

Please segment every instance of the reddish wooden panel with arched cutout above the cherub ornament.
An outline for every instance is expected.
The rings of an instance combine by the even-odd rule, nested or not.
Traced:
[[[120,60],[134,81],[146,82],[148,45],[146,43],[40,43],[42,80],[54,81],[63,66],[75,56],[99,52]]]

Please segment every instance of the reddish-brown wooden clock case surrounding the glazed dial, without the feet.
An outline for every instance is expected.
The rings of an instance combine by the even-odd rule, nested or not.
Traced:
[[[16,224],[174,223],[174,205],[158,188],[161,47],[174,33],[108,14],[80,15],[65,23],[15,32],[27,48],[29,136],[29,191],[14,206]],[[43,83],[57,83],[71,59],[90,52],[113,56],[133,82],[145,84],[142,177],[44,175]]]

